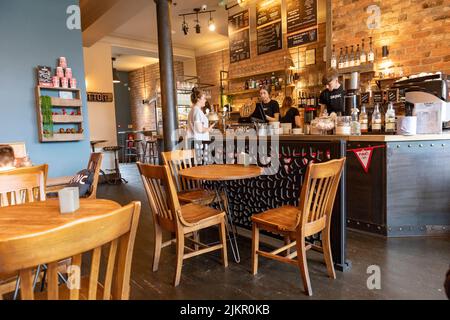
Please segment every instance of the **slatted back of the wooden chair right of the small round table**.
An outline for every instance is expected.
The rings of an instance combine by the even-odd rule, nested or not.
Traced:
[[[305,230],[305,236],[315,234],[329,225],[344,164],[345,158],[342,158],[308,166],[300,195],[300,214],[296,221],[297,227]]]

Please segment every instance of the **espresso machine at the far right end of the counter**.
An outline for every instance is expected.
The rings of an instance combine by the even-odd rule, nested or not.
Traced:
[[[450,78],[441,72],[433,74],[412,75],[408,79],[396,81],[391,88],[398,89],[406,102],[422,113],[434,115],[440,130],[426,133],[439,133],[442,129],[450,130]],[[431,118],[428,116],[428,118]],[[419,122],[419,118],[417,119]],[[433,127],[433,123],[427,125]],[[421,133],[421,132],[418,132]]]

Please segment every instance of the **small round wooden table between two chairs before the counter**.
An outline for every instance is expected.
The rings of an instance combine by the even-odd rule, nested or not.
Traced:
[[[259,177],[263,173],[264,169],[257,166],[243,166],[236,164],[213,164],[207,166],[197,166],[187,168],[179,171],[179,174],[185,178],[192,180],[202,181],[215,181],[216,185],[216,197],[221,198],[221,194],[225,195],[228,199],[229,193],[227,190],[226,181],[231,180],[243,180]],[[230,240],[231,250],[233,252],[234,260],[239,263],[241,257],[239,255],[239,248],[236,241],[236,230],[233,223],[233,212],[230,206],[226,206],[228,224],[231,226],[231,232],[233,233],[233,240],[230,237],[230,227],[227,225],[228,238]]]

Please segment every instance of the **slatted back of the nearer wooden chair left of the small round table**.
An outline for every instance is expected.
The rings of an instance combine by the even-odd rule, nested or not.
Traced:
[[[181,206],[169,167],[138,163],[138,168],[155,224],[171,232],[177,230],[179,223],[189,226],[181,215]]]

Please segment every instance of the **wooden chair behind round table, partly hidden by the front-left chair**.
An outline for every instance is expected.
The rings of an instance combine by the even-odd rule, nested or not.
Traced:
[[[189,180],[181,177],[178,172],[182,169],[197,166],[195,150],[175,150],[163,152],[162,157],[174,180],[178,199],[181,203],[195,203],[209,205],[216,198],[213,191],[202,188],[200,181]]]

